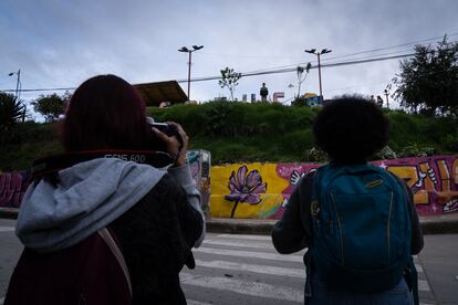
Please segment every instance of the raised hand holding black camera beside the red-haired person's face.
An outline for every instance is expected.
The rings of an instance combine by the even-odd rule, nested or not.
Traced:
[[[189,137],[183,127],[175,122],[156,123],[150,117],[147,117],[147,123],[154,133],[153,149],[169,154],[175,160],[175,166],[185,165]]]

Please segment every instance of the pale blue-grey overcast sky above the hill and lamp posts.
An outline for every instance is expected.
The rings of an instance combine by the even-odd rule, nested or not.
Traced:
[[[226,66],[241,73],[315,66],[316,56],[304,53],[312,48],[332,50],[322,64],[408,54],[414,44],[392,46],[435,44],[446,33],[456,41],[457,14],[456,0],[0,0],[0,90],[15,88],[8,74],[19,69],[24,90],[76,87],[107,73],[134,84],[186,80],[188,57],[177,50],[194,44],[205,48],[192,53],[191,77]],[[376,49],[384,50],[365,52]],[[323,95],[383,95],[398,72],[399,60],[323,67]],[[258,95],[262,82],[270,94],[284,92],[283,102],[298,92],[290,72],[242,77],[235,97]],[[319,93],[316,69],[305,92]],[[218,81],[194,82],[190,95],[205,102],[229,92]]]

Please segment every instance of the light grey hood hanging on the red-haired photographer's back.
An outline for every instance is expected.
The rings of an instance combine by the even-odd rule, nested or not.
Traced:
[[[98,158],[59,171],[24,194],[15,233],[24,246],[52,252],[72,246],[105,228],[157,185],[166,170]]]

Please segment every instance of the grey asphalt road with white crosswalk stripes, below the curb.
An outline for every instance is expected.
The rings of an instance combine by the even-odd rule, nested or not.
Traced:
[[[0,219],[0,305],[22,246],[13,220]],[[426,235],[416,257],[423,304],[458,305],[458,235]],[[196,269],[183,270],[188,304],[302,304],[302,253],[278,254],[267,235],[209,233],[195,251]]]

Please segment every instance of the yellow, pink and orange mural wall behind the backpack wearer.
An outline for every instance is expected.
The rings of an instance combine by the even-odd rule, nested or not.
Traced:
[[[415,157],[372,164],[385,168],[406,181],[414,193],[415,207],[420,215],[458,211],[458,156]],[[319,166],[316,164],[249,164],[214,167],[211,213],[221,218],[279,219],[299,180],[316,170]],[[240,202],[242,202],[240,196],[248,197],[248,190],[253,189],[256,181],[266,182],[266,190],[264,193],[256,192],[256,204],[240,204],[237,208],[238,202],[231,196],[231,181],[233,182],[236,178],[240,179],[237,180],[239,182],[246,181],[242,180],[242,176],[247,172],[253,172],[252,181],[244,186],[244,191],[243,186],[239,183]],[[258,176],[259,178],[254,178]],[[236,202],[236,210],[232,213],[233,202]]]

